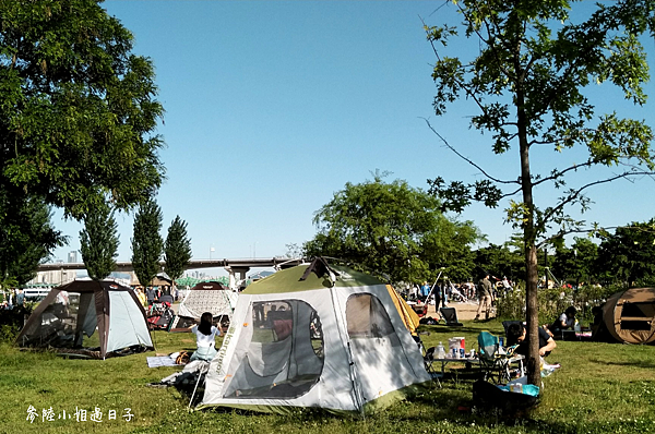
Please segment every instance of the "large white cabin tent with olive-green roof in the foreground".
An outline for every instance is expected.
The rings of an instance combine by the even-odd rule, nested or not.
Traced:
[[[429,381],[388,287],[319,258],[241,292],[201,407],[364,413]]]

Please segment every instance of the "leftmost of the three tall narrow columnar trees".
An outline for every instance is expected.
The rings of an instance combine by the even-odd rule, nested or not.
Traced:
[[[80,231],[82,261],[94,280],[103,280],[116,269],[118,256],[118,224],[109,205],[93,207],[84,218],[84,229]]]

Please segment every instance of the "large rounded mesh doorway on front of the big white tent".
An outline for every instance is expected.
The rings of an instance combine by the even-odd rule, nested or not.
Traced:
[[[307,394],[323,372],[323,329],[317,312],[299,300],[254,302],[250,341],[224,398],[293,399]]]

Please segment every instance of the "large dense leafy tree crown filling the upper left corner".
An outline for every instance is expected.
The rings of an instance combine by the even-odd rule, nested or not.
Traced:
[[[99,3],[0,1],[0,194],[19,207],[43,203],[81,220],[106,197],[131,210],[162,184],[152,62]],[[14,224],[16,237],[33,233]],[[29,243],[39,260],[56,244]]]

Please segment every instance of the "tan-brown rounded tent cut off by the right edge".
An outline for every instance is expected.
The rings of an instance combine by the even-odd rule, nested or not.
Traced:
[[[619,342],[655,342],[655,288],[630,288],[611,296],[603,323]]]

